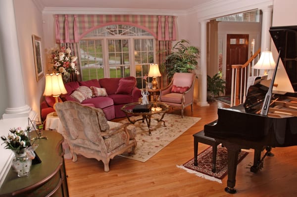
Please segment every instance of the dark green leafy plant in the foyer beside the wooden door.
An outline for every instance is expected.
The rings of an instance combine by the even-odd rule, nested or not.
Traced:
[[[215,96],[224,93],[226,81],[217,73],[213,77],[207,75],[207,100],[214,100]]]

